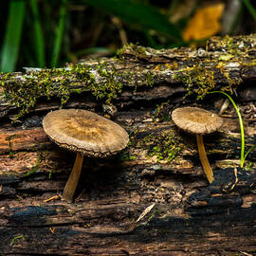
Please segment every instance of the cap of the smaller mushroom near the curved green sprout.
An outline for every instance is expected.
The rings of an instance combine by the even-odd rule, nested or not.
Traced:
[[[196,135],[213,133],[223,123],[219,116],[199,107],[176,108],[172,113],[172,119],[180,129]]]

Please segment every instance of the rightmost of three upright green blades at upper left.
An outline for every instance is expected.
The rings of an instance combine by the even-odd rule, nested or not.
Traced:
[[[64,38],[64,24],[65,24],[65,18],[66,18],[66,2],[67,2],[67,0],[62,0],[59,24],[58,24],[58,29],[57,29],[55,42],[54,42],[54,46],[53,46],[53,52],[52,52],[51,67],[56,67],[59,62],[59,58],[60,58],[62,41]]]

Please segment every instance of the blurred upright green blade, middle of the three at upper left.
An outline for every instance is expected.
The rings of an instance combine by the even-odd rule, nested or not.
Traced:
[[[41,22],[39,18],[39,11],[36,0],[29,0],[30,9],[33,15],[33,30],[34,30],[34,48],[37,58],[38,67],[45,67],[45,42]]]

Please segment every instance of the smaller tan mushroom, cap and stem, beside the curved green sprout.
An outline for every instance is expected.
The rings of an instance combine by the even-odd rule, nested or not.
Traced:
[[[203,135],[218,130],[222,126],[223,119],[210,111],[198,107],[176,108],[172,113],[172,119],[177,127],[196,135],[199,157],[204,172],[211,183],[214,178],[206,155]]]

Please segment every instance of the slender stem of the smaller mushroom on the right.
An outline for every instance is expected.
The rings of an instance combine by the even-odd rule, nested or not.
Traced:
[[[208,157],[206,155],[206,150],[204,146],[204,140],[202,135],[196,135],[196,142],[197,142],[197,148],[199,152],[199,157],[203,166],[203,169],[205,171],[205,174],[211,183],[214,180],[212,170],[210,168],[210,163],[208,160]]]

